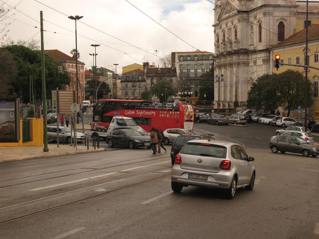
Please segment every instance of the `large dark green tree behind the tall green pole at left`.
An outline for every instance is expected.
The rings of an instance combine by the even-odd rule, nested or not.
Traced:
[[[33,78],[35,96],[41,98],[41,52],[34,51],[24,46],[13,45],[7,47],[7,51],[13,55],[18,68],[17,76],[11,76],[8,85],[13,87],[15,93],[22,95],[22,102],[29,102],[29,79]],[[61,88],[63,84],[70,83],[70,76],[58,72],[61,63],[54,62],[53,58],[45,55],[45,78],[47,98],[51,98],[51,91]]]

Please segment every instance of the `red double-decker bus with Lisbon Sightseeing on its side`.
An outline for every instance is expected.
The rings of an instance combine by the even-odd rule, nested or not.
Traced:
[[[172,109],[150,107],[152,102],[143,100],[100,99],[93,109],[93,122],[107,127],[113,116],[131,117],[147,132],[152,127],[162,129],[193,129],[194,107],[178,102]]]

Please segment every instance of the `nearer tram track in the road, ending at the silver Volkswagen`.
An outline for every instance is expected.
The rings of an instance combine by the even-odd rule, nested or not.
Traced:
[[[168,169],[168,168],[164,168],[164,169]],[[164,169],[161,169],[161,170],[164,170]],[[156,170],[156,171],[158,171],[158,170]],[[146,172],[146,173],[137,174],[137,175],[134,175],[134,176],[131,176],[131,177],[136,177],[136,176],[140,176],[140,175],[151,173],[151,172],[154,172],[154,170]],[[71,202],[63,203],[63,204],[60,204],[60,205],[57,205],[57,206],[48,207],[46,209],[42,209],[42,210],[39,210],[39,211],[36,211],[36,212],[32,212],[32,213],[29,213],[29,214],[24,214],[24,215],[21,215],[21,216],[18,216],[18,217],[14,217],[14,218],[11,218],[11,219],[8,219],[8,220],[5,220],[5,221],[0,221],[0,225],[4,224],[4,223],[11,222],[11,221],[16,221],[16,220],[19,220],[19,219],[23,219],[23,218],[26,218],[26,217],[29,217],[29,216],[32,216],[32,215],[44,213],[44,212],[47,212],[47,211],[50,211],[50,210],[58,209],[58,208],[61,208],[61,207],[64,207],[64,206],[68,206],[68,205],[71,205],[71,204],[74,204],[74,203],[77,203],[77,202],[81,202],[81,201],[84,201],[84,200],[87,200],[87,199],[93,199],[93,198],[96,198],[96,197],[99,197],[99,196],[103,196],[103,195],[111,193],[111,192],[116,192],[116,191],[123,190],[123,189],[129,188],[129,187],[133,187],[133,186],[140,185],[140,184],[143,184],[143,183],[146,183],[146,182],[150,182],[150,181],[162,178],[162,177],[167,177],[169,175],[171,175],[171,174],[167,173],[165,175],[161,175],[159,177],[154,177],[154,178],[151,178],[151,179],[147,179],[147,180],[144,180],[142,182],[137,182],[137,183],[130,184],[130,185],[127,185],[127,186],[123,186],[123,187],[120,187],[120,188],[109,190],[109,191],[106,191],[106,192],[101,192],[101,193],[98,193],[98,194],[94,194],[94,195],[91,195],[91,196],[88,196],[88,197],[85,197],[85,198],[73,200]],[[118,179],[118,180],[115,180],[115,181],[112,181],[112,182],[116,182],[116,181],[123,180],[123,179],[128,179],[128,178],[131,178],[131,177]],[[107,183],[104,183],[104,184],[108,184],[108,183],[111,183],[111,182],[107,182]],[[100,186],[100,185],[102,185],[102,184],[94,185],[94,186],[90,186],[90,187],[86,187],[86,188],[82,188],[82,189],[78,189],[78,190],[74,190],[74,191],[70,191],[70,192],[64,192],[64,193],[61,193],[61,194],[56,194],[56,195],[52,195],[52,196],[41,198],[41,199],[35,199],[35,200],[32,200],[32,201],[20,203],[20,204],[17,204],[17,205],[6,206],[6,207],[0,208],[0,210],[5,209],[5,208],[9,208],[9,207],[13,207],[13,206],[20,206],[20,205],[23,205],[23,204],[27,204],[27,203],[31,203],[31,202],[35,202],[35,201],[39,201],[39,200],[43,200],[43,199],[48,199],[50,197],[56,197],[56,196],[63,195],[63,194],[66,194],[66,193],[77,192],[77,191],[80,191],[80,190],[85,190],[85,189],[96,187],[96,186]]]

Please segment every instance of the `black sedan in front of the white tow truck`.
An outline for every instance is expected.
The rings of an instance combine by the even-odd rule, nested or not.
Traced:
[[[150,148],[151,137],[143,136],[136,130],[120,129],[115,130],[106,136],[108,147],[122,146],[129,148],[147,147]]]

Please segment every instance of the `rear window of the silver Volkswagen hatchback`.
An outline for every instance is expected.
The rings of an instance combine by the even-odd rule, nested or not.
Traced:
[[[188,142],[181,154],[226,158],[227,148],[220,145]]]

